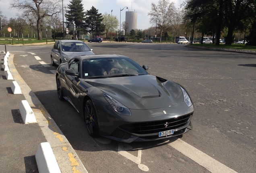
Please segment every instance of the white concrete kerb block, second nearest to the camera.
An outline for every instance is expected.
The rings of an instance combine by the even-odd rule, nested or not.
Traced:
[[[21,101],[19,110],[24,124],[37,122],[37,120],[35,119],[35,114],[26,100]]]

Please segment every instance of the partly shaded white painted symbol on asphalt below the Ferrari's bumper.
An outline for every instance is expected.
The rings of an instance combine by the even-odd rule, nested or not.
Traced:
[[[124,147],[126,147],[126,149],[124,149]],[[135,157],[134,155],[125,151],[125,150],[130,150],[130,149],[132,149],[132,146],[130,146],[126,143],[121,143],[121,142],[118,143],[118,154],[120,154],[120,155],[126,157],[127,159],[129,159],[130,161],[133,161],[134,163],[138,164],[138,167],[142,171],[149,171],[149,168],[146,165],[140,164],[140,162],[141,162],[141,150],[138,149],[138,156]]]

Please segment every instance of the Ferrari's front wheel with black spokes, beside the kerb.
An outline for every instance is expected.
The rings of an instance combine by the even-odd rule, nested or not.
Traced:
[[[85,123],[89,135],[91,135],[92,137],[99,136],[98,119],[93,102],[91,100],[88,100],[85,103]]]

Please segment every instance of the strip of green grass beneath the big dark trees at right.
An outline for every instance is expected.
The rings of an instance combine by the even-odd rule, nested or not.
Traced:
[[[192,44],[192,46],[201,46],[201,47],[209,47],[209,48],[229,48],[229,49],[239,49],[239,50],[255,50],[256,46],[248,46],[245,44],[220,44],[219,46],[216,46],[215,44]]]

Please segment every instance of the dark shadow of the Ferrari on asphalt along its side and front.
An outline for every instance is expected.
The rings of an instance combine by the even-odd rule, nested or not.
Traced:
[[[105,149],[118,151],[117,141],[105,137],[91,137],[87,132],[83,116],[68,101],[60,101],[56,90],[37,91],[34,93],[75,150],[92,152]],[[133,142],[129,143],[129,145],[132,146],[132,150],[144,150],[166,145],[177,139],[177,137],[172,137],[164,139],[165,142],[163,140],[157,140]],[[98,147],[88,147],[89,145],[95,146],[95,143],[97,143]]]

